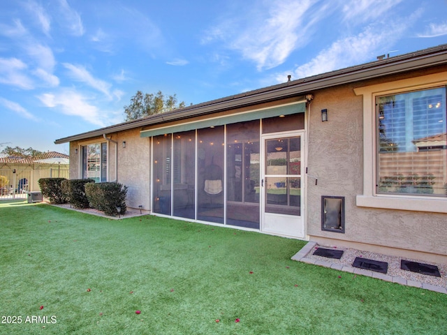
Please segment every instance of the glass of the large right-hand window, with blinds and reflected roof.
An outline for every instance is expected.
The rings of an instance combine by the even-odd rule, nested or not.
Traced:
[[[376,97],[376,193],[446,197],[446,87]]]

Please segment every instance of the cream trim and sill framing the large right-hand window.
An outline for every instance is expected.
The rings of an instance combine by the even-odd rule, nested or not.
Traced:
[[[447,72],[411,77],[394,82],[374,84],[354,89],[363,96],[363,194],[357,195],[358,207],[402,209],[447,213],[447,198],[414,195],[376,194],[376,96],[430,89],[447,85]]]

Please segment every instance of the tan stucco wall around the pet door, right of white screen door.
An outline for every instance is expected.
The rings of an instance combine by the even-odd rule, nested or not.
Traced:
[[[317,91],[314,96],[307,166],[318,184],[308,177],[307,234],[311,239],[447,255],[447,214],[356,206],[363,185],[362,96],[356,96],[351,85]],[[321,121],[322,109],[328,110],[327,122]],[[322,195],[345,197],[344,234],[321,230]]]

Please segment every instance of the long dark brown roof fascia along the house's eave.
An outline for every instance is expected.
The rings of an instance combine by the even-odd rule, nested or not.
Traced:
[[[214,112],[223,112],[236,107],[247,107],[258,103],[266,103],[291,96],[298,96],[300,94],[310,93],[316,89],[325,89],[328,87],[335,87],[340,84],[347,84],[349,82],[369,80],[376,77],[381,77],[383,75],[393,75],[442,64],[447,64],[447,50],[444,47],[441,47],[439,51],[434,54],[430,53],[419,55],[418,52],[416,52],[411,59],[408,59],[408,55],[406,55],[406,57],[383,59],[374,63],[365,64],[364,66],[353,66],[352,68],[335,70],[331,73],[323,73],[321,75],[307,77],[302,80],[294,80],[290,83],[267,87],[265,89],[252,91],[251,93],[247,92],[247,94],[229,96],[228,98],[193,105],[191,107],[175,110],[173,112],[156,114],[145,119],[138,119],[125,122],[123,124],[117,124],[115,126],[97,129],[87,133],[64,137],[59,140],[55,140],[54,143],[62,144],[76,140],[84,140],[89,137],[102,136],[103,134],[126,131],[129,129],[154,124],[163,124],[168,121],[177,121],[192,116],[197,117],[200,115],[212,114]]]

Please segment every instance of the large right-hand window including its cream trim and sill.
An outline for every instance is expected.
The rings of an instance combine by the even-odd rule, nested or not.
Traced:
[[[357,206],[447,213],[446,78],[440,72],[354,89],[363,108]],[[441,101],[432,101],[439,94]],[[442,173],[434,173],[436,165]]]

